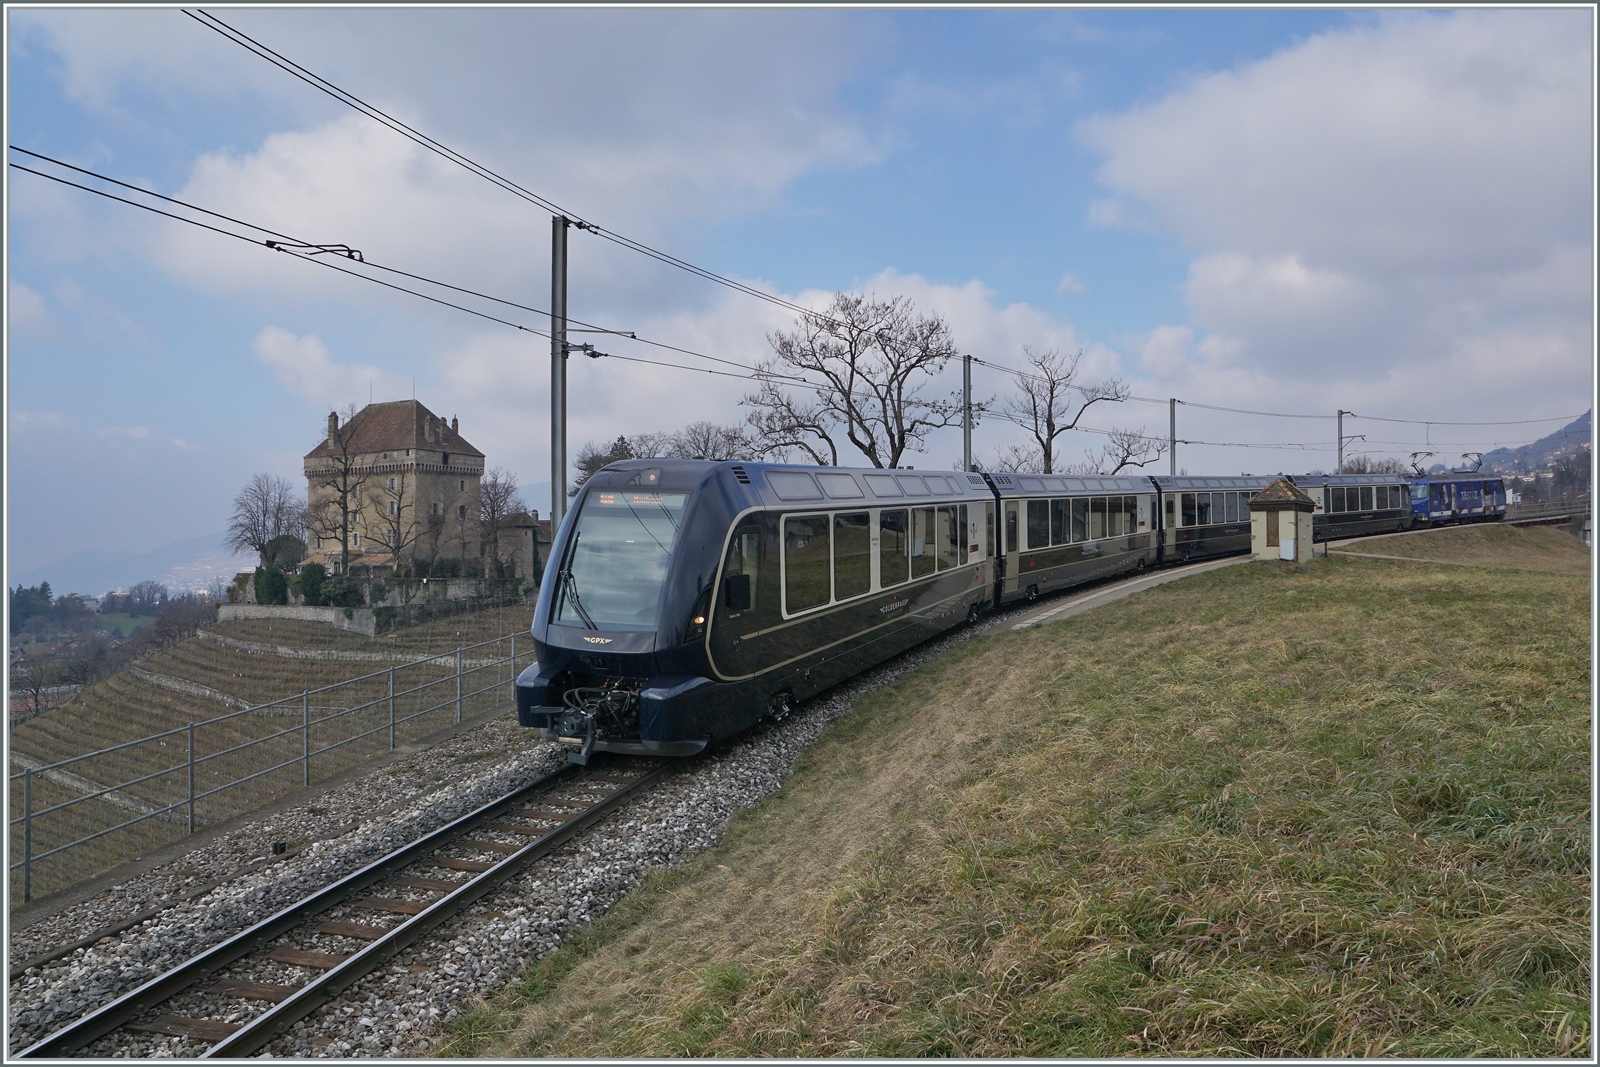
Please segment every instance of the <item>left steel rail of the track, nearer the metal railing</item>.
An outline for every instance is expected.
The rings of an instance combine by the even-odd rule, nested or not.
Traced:
[[[672,766],[670,763],[667,766]],[[506,793],[498,800],[491,800],[486,805],[470,811],[451,822],[446,822],[440,829],[424,833],[410,845],[402,845],[387,856],[373,861],[371,864],[362,867],[360,870],[346,875],[344,878],[334,881],[333,885],[301,899],[280,912],[261,920],[254,926],[243,929],[227,941],[206,949],[205,952],[179,963],[165,974],[160,974],[144,985],[130,990],[101,1006],[96,1011],[67,1024],[61,1030],[35,1041],[19,1053],[13,1053],[18,1059],[37,1059],[37,1057],[56,1057],[66,1056],[69,1053],[78,1051],[93,1041],[106,1037],[112,1030],[117,1030],[125,1022],[138,1016],[139,1013],[152,1008],[158,1003],[171,1000],[186,989],[205,981],[213,973],[222,969],[224,966],[250,955],[261,945],[275,941],[285,933],[294,929],[302,921],[314,915],[320,915],[344,901],[350,899],[366,886],[381,881],[387,875],[414,864],[429,853],[443,848],[454,838],[475,830],[485,822],[491,822],[507,811],[523,805],[533,798],[541,790],[547,789],[554,782],[571,777],[581,768],[578,765],[568,765],[544,774],[526,785]],[[541,838],[542,840],[542,838]],[[530,846],[531,848],[531,846]],[[493,873],[493,872],[483,872]],[[480,875],[482,877],[482,875]],[[475,880],[474,880],[475,881]],[[466,883],[467,886],[472,881]],[[448,897],[446,897],[448,899]],[[285,1001],[288,1003],[288,1001]]]

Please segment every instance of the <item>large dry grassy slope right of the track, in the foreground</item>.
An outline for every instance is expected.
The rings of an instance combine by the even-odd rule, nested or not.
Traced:
[[[968,643],[451,1049],[1587,1054],[1587,598],[1334,557]]]

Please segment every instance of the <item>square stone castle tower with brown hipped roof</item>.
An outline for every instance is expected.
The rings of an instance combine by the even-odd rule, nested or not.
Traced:
[[[483,453],[416,400],[371,403],[306,453],[307,560],[478,566]]]

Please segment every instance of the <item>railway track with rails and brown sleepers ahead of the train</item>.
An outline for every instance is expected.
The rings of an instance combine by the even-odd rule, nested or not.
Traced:
[[[285,1037],[432,929],[680,766],[563,766],[346,875],[80,1017],[16,1057],[91,1056],[122,1032],[240,1057]],[[275,981],[261,981],[274,977]]]

